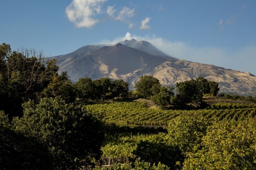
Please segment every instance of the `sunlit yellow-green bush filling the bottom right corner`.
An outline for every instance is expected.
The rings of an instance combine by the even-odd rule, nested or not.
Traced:
[[[189,155],[184,169],[254,169],[255,118],[234,123],[216,122],[202,137],[202,147]]]

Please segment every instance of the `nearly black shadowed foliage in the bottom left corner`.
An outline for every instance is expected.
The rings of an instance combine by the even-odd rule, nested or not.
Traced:
[[[0,111],[0,169],[49,169],[48,149],[35,137],[11,127],[8,116]]]

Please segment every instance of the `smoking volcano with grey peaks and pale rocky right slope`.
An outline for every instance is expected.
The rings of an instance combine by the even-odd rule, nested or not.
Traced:
[[[162,85],[203,76],[218,82],[221,92],[256,92],[256,76],[249,72],[178,59],[144,40],[124,40],[114,45],[86,45],[53,58],[57,59],[59,71],[67,71],[72,81],[82,77],[109,77],[123,79],[132,88],[146,74],[158,78]]]

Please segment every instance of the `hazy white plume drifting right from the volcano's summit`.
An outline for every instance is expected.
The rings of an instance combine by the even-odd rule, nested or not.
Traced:
[[[256,74],[256,44],[247,45],[230,52],[226,48],[215,46],[194,46],[187,42],[171,41],[155,35],[138,36],[126,32],[124,36],[119,36],[113,40],[102,40],[101,44],[115,44],[118,41],[135,38],[137,40],[146,40],[155,45],[165,53],[186,59],[193,62],[213,64],[225,68],[241,70]]]

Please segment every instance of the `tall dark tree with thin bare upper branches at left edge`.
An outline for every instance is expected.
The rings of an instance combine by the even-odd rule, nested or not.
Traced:
[[[43,53],[33,49],[12,51],[9,44],[0,45],[0,74],[2,91],[0,109],[10,117],[22,115],[22,102],[37,99],[57,73],[56,60],[43,59]],[[3,92],[4,91],[4,92]]]

